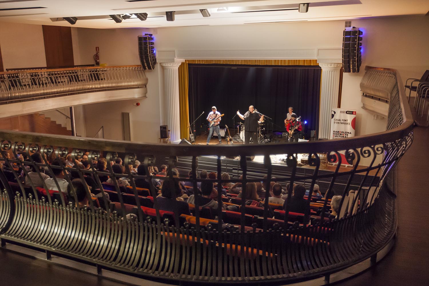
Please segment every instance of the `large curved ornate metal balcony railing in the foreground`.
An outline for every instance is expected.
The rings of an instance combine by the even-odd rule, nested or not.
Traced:
[[[288,283],[326,276],[373,258],[396,233],[394,169],[411,145],[413,120],[397,72],[367,69],[378,70],[380,80],[382,75],[389,81],[392,76],[396,78],[396,86],[390,94],[387,131],[372,135],[287,145],[208,147],[0,131],[3,140],[1,151],[5,158],[2,160],[6,166],[0,172],[0,181],[5,188],[0,201],[2,243],[37,247],[52,254],[95,264],[99,269],[107,268],[170,283]],[[85,151],[89,152],[89,169],[81,169],[77,163],[72,168],[65,168],[63,163],[61,166],[48,163],[47,158],[51,158],[52,154],[56,157],[71,154],[72,159],[80,159]],[[10,159],[6,159],[7,152]],[[32,159],[21,161],[19,153],[27,156],[40,153],[43,163],[34,163]],[[125,166],[132,165],[136,159],[141,160],[145,175],[133,174],[128,168],[125,175],[114,173],[110,162],[115,161],[118,153],[124,159]],[[283,175],[272,178],[270,155],[285,153],[288,155],[287,166],[281,171]],[[299,172],[297,154],[308,154],[310,175]],[[347,160],[353,167],[342,169],[338,164],[334,171],[322,172],[321,154],[326,154],[328,162],[338,160],[341,164],[342,160]],[[106,158],[107,169],[99,171],[92,161],[100,160],[102,155]],[[217,178],[174,179],[171,170],[179,165],[180,156],[184,155],[192,158],[188,167],[193,178],[197,178],[197,171],[200,170],[199,156],[217,156],[211,169],[207,168],[217,172]],[[222,156],[236,155],[241,158],[239,173],[230,180],[222,180],[221,172],[227,170],[224,164],[227,159]],[[257,170],[254,165],[252,170],[248,168],[246,156],[250,155],[265,157]],[[364,158],[370,159],[369,166],[360,166]],[[216,217],[212,220],[203,217],[206,209],[200,210],[199,199],[195,200],[193,216],[179,216],[177,206],[172,213],[160,211],[161,199],[157,197],[158,190],[153,180],[148,180],[147,190],[153,199],[153,209],[147,206],[142,208],[150,198],[148,193],[145,199],[139,197],[142,190],[136,187],[137,180],[152,179],[148,168],[164,162],[168,162],[170,171],[167,177],[156,178],[161,181],[168,179],[166,184],[172,180],[190,181],[195,193],[199,193],[197,182],[218,183],[218,208],[211,210]],[[91,192],[99,189],[98,202],[104,208],[96,207],[97,201],[90,199],[86,184],[88,206],[81,208],[66,201],[77,199],[74,188],[70,189],[67,198],[58,193],[52,193],[52,196],[43,193],[41,189],[36,189],[33,181],[25,186],[21,183],[19,172],[22,170],[27,175],[27,166],[34,168],[38,175],[40,170],[45,169],[53,178],[53,169],[61,169],[64,174],[69,173],[81,180],[85,180],[84,176],[92,178],[95,186]],[[183,165],[181,167],[184,168]],[[280,167],[275,168],[277,173],[280,172]],[[252,176],[248,176],[250,172]],[[240,174],[243,175],[242,179],[238,178]],[[101,178],[106,175],[112,179],[113,191],[107,190],[108,185],[101,183]],[[129,188],[118,184],[124,181],[120,180],[122,177],[129,180]],[[16,183],[9,183],[8,179],[15,179]],[[309,221],[306,215],[290,212],[293,182],[306,181],[307,189],[312,190],[314,184],[322,179],[330,181],[329,187],[323,190],[328,197],[333,190],[341,195],[339,215],[329,218],[327,199],[320,202],[307,200],[305,209],[318,211],[311,215]],[[71,184],[69,175],[64,180]],[[269,205],[266,200],[261,208],[256,209],[260,217],[247,214],[251,208],[246,207],[246,183],[260,181],[268,185],[271,181],[290,183],[284,213],[273,211],[275,206]],[[222,198],[220,186],[225,182],[242,183],[243,196],[239,202],[236,201],[238,214],[222,211],[225,198]],[[43,186],[47,188],[45,183]],[[341,187],[339,191],[338,186]],[[357,186],[353,187],[354,193],[350,192],[350,186]],[[110,205],[107,194],[113,201]],[[264,196],[267,198],[269,192]],[[175,200],[170,202],[174,205]],[[125,217],[129,213],[136,216]],[[279,219],[272,219],[273,214]]]

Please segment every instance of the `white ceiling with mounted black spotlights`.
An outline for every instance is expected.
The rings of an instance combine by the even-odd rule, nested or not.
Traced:
[[[425,15],[429,0],[311,0],[307,13],[299,13],[305,0],[0,0],[0,21],[71,26],[63,17],[77,17],[73,27],[181,27],[272,22],[352,20],[399,15]],[[308,1],[308,0],[307,0]],[[16,8],[32,9],[16,9]],[[35,8],[43,7],[43,8]],[[219,9],[221,8],[221,9]],[[226,8],[226,11],[220,11]],[[6,10],[5,10],[6,9]],[[199,9],[209,9],[202,17]],[[219,10],[219,11],[218,11]],[[268,11],[271,10],[271,11]],[[175,21],[165,12],[176,11]],[[148,13],[115,23],[109,15]]]

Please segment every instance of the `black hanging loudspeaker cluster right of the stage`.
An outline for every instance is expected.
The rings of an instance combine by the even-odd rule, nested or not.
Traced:
[[[359,72],[362,64],[362,31],[356,27],[346,28],[343,32],[343,69],[344,72]]]

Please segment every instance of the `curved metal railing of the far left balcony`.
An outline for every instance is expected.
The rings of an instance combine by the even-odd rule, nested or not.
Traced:
[[[145,87],[147,82],[142,66],[0,72],[0,104],[71,93]]]

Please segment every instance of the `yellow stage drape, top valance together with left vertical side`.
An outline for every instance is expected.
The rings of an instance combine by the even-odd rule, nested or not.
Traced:
[[[179,66],[180,137],[189,140],[188,64],[230,64],[258,66],[317,66],[317,60],[185,60]]]

